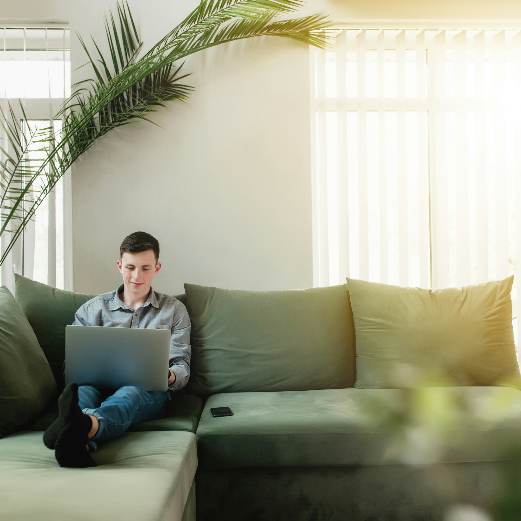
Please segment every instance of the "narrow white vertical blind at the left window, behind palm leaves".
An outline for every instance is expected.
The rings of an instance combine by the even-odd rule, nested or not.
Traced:
[[[59,132],[61,121],[53,114],[70,95],[69,29],[0,27],[0,103],[4,114],[8,105],[22,120],[19,100],[26,108],[32,128],[48,128],[53,121]],[[27,132],[22,126],[22,133]],[[10,144],[0,130],[2,146]],[[40,162],[42,143],[27,151],[24,160]],[[3,162],[5,157],[0,157]],[[42,178],[40,182],[43,182]],[[36,187],[38,188],[38,181]],[[11,290],[13,271],[62,289],[71,289],[71,201],[70,175],[61,178],[36,210],[34,219],[18,239],[2,265],[2,283]],[[12,226],[16,226],[14,222]],[[8,243],[2,238],[2,253]]]

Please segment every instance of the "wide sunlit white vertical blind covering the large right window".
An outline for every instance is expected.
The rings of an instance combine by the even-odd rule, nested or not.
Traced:
[[[353,277],[441,288],[515,274],[521,32],[332,36],[333,50],[311,50],[315,286]],[[516,338],[519,291],[514,280]]]

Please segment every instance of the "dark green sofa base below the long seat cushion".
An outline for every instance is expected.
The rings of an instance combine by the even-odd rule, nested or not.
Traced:
[[[501,489],[494,462],[198,468],[195,482],[197,521],[441,521],[456,504],[493,512]]]

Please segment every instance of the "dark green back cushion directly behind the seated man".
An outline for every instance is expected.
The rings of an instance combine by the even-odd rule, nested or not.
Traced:
[[[61,389],[64,387],[65,326],[72,324],[78,308],[96,295],[58,290],[20,275],[15,275],[15,284],[16,300],[29,320]],[[186,303],[184,294],[176,295],[176,299]]]

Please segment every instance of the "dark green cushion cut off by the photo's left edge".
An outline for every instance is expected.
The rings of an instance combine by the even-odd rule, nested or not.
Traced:
[[[0,288],[0,437],[29,425],[57,394],[56,381],[15,297]]]

